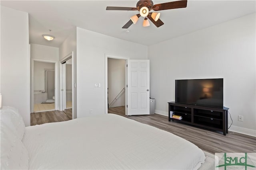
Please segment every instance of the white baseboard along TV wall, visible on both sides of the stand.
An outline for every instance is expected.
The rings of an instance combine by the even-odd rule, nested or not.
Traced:
[[[158,114],[158,115],[164,115],[164,116],[168,117],[168,112],[166,112],[166,111],[155,110],[155,113]],[[230,125],[228,125],[228,127],[229,126]],[[244,135],[249,135],[249,136],[252,136],[252,137],[256,137],[256,130],[254,130],[254,129],[247,129],[247,128],[244,128],[244,127],[238,127],[238,126],[231,125],[231,127],[228,130],[232,131],[232,132],[242,133]]]

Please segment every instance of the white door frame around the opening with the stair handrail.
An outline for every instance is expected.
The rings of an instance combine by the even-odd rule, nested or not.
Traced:
[[[105,54],[105,114],[108,114],[108,58],[125,60],[125,106],[127,106],[127,63],[129,57],[121,57],[118,55]],[[125,115],[127,115],[127,107],[125,107]]]

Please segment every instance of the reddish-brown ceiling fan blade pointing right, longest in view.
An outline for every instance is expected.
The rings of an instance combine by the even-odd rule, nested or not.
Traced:
[[[155,4],[152,7],[152,10],[160,11],[160,10],[170,10],[175,8],[186,8],[187,2],[188,2],[187,0],[180,0],[180,1],[174,1],[174,2],[166,2],[162,4]]]

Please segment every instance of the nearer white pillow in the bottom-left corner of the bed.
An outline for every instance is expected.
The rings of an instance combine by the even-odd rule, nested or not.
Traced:
[[[1,170],[28,169],[28,151],[12,130],[1,122]]]

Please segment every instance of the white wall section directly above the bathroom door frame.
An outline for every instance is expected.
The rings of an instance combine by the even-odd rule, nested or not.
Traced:
[[[31,59],[59,61],[59,48],[30,43]]]

